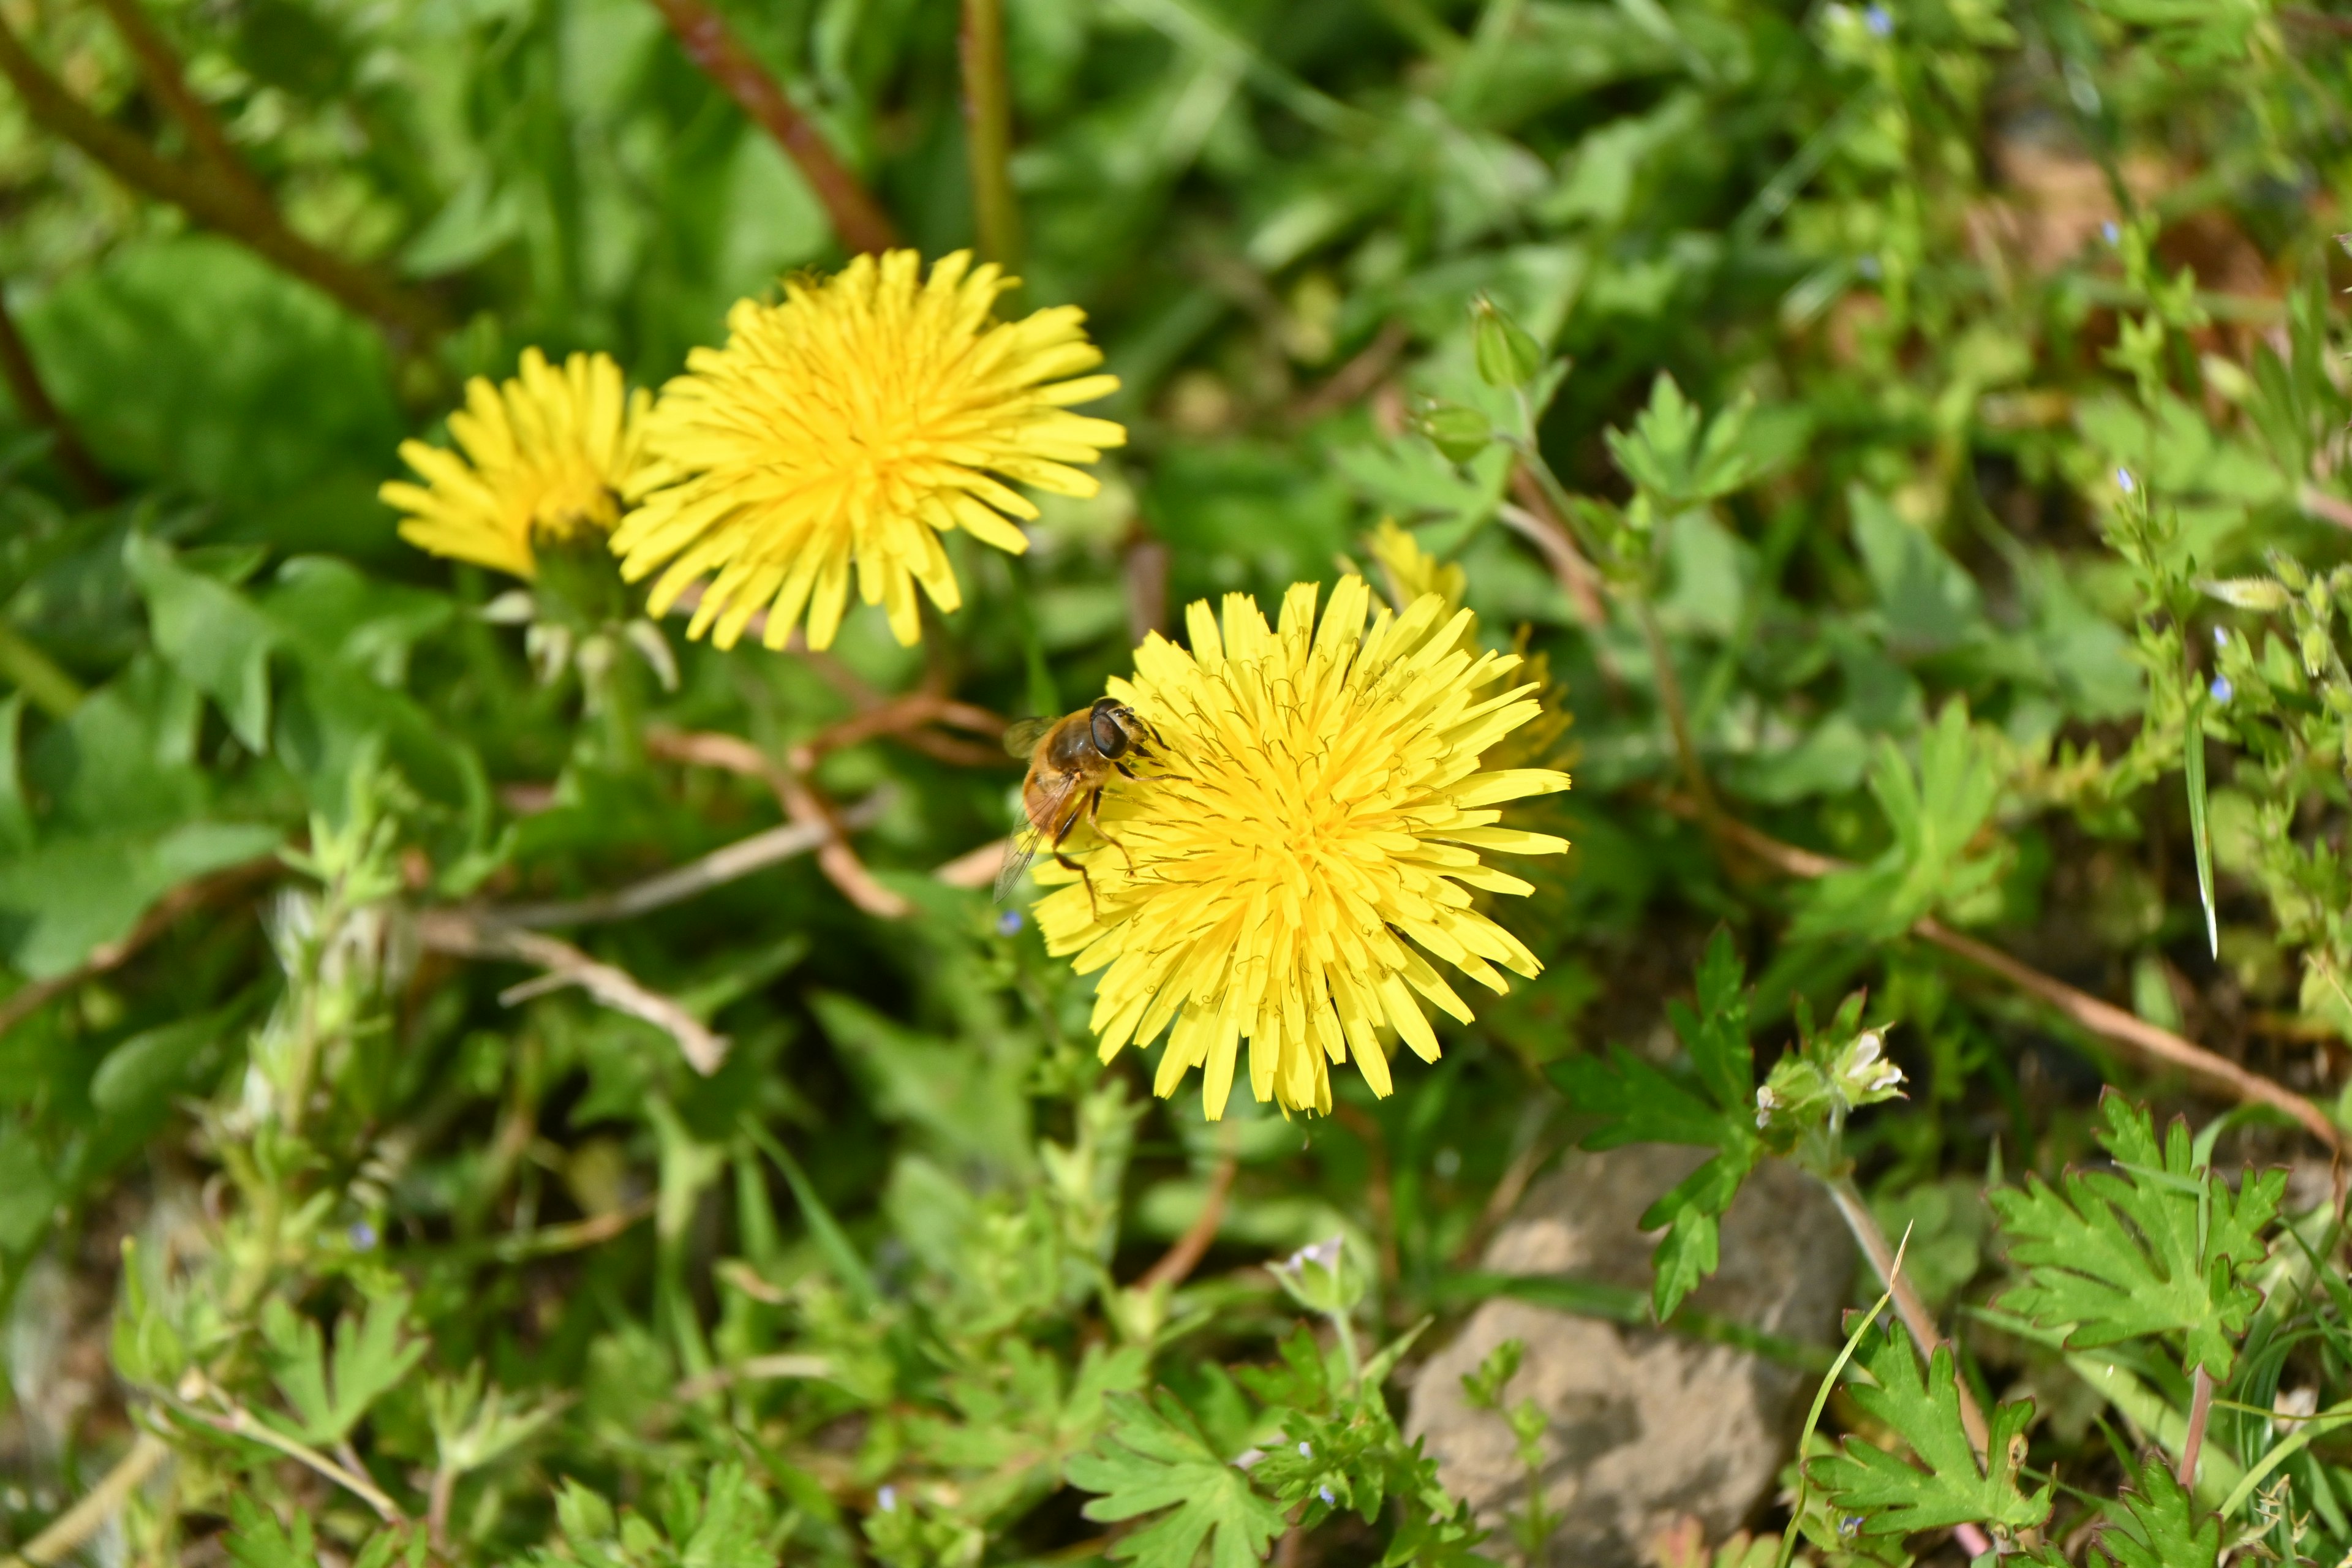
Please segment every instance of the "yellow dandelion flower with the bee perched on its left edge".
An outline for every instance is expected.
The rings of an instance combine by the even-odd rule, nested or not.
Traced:
[[[1536,717],[1534,686],[1501,677],[1510,654],[1463,646],[1470,611],[1421,595],[1371,609],[1350,576],[1315,621],[1315,585],[1282,599],[1282,623],[1225,595],[1223,628],[1192,604],[1192,649],[1160,635],[1110,696],[1150,726],[1134,780],[1112,778],[1101,837],[1037,905],[1047,950],[1105,971],[1094,1032],[1108,1063],[1174,1025],[1155,1091],[1202,1067],[1221,1117],[1240,1044],[1249,1088],[1289,1110],[1331,1110],[1329,1065],[1355,1056],[1390,1091],[1378,1027],[1437,1060],[1430,1001],[1468,1004],[1439,959],[1503,992],[1536,957],[1472,903],[1472,889],[1531,886],[1479,851],[1545,856],[1566,839],[1498,827],[1498,802],[1566,790],[1550,769],[1482,771],[1479,755]],[[1367,625],[1369,621],[1369,625]],[[1089,891],[1091,889],[1091,891]]]

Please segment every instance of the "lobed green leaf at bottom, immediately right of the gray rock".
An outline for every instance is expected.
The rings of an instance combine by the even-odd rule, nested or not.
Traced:
[[[1994,1406],[1990,1420],[1992,1472],[1978,1467],[1969,1432],[1959,1425],[1959,1382],[1952,1349],[1938,1345],[1926,1378],[1910,1338],[1900,1331],[1870,1335],[1856,1356],[1870,1382],[1851,1387],[1853,1403],[1893,1427],[1919,1465],[1849,1436],[1837,1455],[1816,1460],[1809,1474],[1844,1514],[1860,1514],[1863,1535],[1910,1535],[1957,1523],[1990,1523],[2027,1530],[2051,1514],[2051,1488],[2018,1486],[2025,1460],[2030,1399]]]

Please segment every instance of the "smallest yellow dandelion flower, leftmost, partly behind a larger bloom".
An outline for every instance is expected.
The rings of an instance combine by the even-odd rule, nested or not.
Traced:
[[[407,512],[400,536],[419,550],[536,576],[534,543],[609,534],[644,463],[652,397],[621,383],[612,355],[572,355],[562,369],[536,348],[503,386],[475,376],[449,416],[456,451],[400,442],[423,484],[376,494]]]

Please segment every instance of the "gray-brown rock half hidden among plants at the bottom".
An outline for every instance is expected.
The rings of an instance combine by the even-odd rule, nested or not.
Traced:
[[[1569,1154],[1496,1234],[1484,1267],[1646,1291],[1656,1237],[1637,1218],[1696,1164],[1693,1150],[1663,1145]],[[1722,1269],[1691,1305],[1830,1342],[1851,1274],[1853,1241],[1828,1194],[1766,1161],[1724,1215]],[[1804,1373],[1748,1352],[1491,1300],[1423,1363],[1406,1413],[1446,1488],[1491,1530],[1524,1507],[1526,1472],[1510,1427],[1472,1410],[1461,1380],[1503,1340],[1526,1342],[1505,1406],[1534,1399],[1550,1418],[1543,1488],[1562,1519],[1550,1568],[1639,1568],[1682,1516],[1696,1516],[1710,1542],[1736,1530],[1771,1493],[1813,1389]]]

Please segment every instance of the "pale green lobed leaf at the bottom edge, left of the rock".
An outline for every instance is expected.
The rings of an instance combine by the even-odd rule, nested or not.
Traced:
[[[1251,1490],[1247,1472],[1209,1450],[1174,1396],[1112,1394],[1105,1403],[1110,1429],[1068,1465],[1070,1486],[1103,1493],[1087,1505],[1087,1519],[1117,1523],[1167,1509],[1122,1535],[1110,1556],[1136,1568],[1192,1568],[1209,1542],[1211,1568],[1265,1561],[1284,1528],[1282,1509]]]

